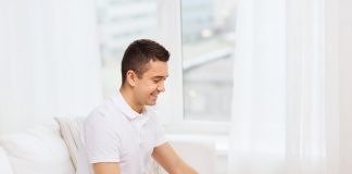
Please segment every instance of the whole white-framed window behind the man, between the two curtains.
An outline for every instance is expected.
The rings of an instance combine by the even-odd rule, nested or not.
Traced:
[[[208,124],[215,122],[224,128],[218,122],[230,120],[235,2],[98,0],[97,5],[104,97],[121,85],[120,62],[128,44],[155,39],[172,53],[167,92],[158,104],[162,123],[187,132],[196,122],[200,132],[216,129]]]

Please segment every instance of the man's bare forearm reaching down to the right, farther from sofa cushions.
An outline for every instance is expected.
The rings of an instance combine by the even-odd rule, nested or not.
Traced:
[[[152,157],[169,174],[197,174],[196,170],[176,154],[168,142],[155,147]]]

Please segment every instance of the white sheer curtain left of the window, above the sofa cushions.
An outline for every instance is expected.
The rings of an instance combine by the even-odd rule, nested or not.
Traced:
[[[101,99],[93,0],[0,0],[0,133]]]

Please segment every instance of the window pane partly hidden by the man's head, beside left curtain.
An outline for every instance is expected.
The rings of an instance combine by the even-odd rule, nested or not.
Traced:
[[[135,39],[155,39],[155,0],[97,0],[104,97],[121,85],[120,62]]]

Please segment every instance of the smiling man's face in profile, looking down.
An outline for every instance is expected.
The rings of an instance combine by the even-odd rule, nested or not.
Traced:
[[[165,91],[164,83],[167,76],[167,62],[151,60],[147,64],[147,71],[136,79],[134,91],[138,104],[154,105],[158,95]]]

